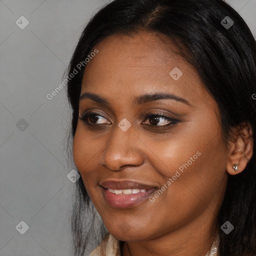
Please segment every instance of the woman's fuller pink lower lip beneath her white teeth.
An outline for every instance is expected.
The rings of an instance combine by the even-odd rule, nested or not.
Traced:
[[[102,189],[107,203],[115,208],[129,208],[138,205],[145,201],[156,190],[155,188],[152,188],[145,192],[138,192],[135,194],[114,194],[109,192],[107,188]]]

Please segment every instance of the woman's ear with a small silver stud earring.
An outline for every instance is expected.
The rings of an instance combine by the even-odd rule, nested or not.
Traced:
[[[248,122],[242,122],[233,128],[233,139],[229,142],[230,149],[226,171],[230,175],[240,173],[246,167],[253,153],[252,127]],[[234,164],[238,170],[234,171]]]

